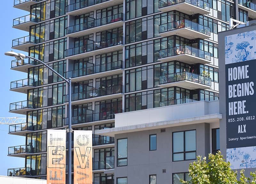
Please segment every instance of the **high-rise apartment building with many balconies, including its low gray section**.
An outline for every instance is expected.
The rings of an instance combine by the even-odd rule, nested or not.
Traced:
[[[218,32],[253,19],[230,0],[14,0],[28,32],[12,49],[72,78],[72,128],[93,132],[94,184],[180,183],[197,155],[220,150]],[[27,11],[27,13],[26,13]],[[46,179],[47,129],[68,126],[66,83],[34,60],[12,61],[27,116],[9,134],[24,165],[8,176]],[[68,161],[67,161],[68,164]]]

